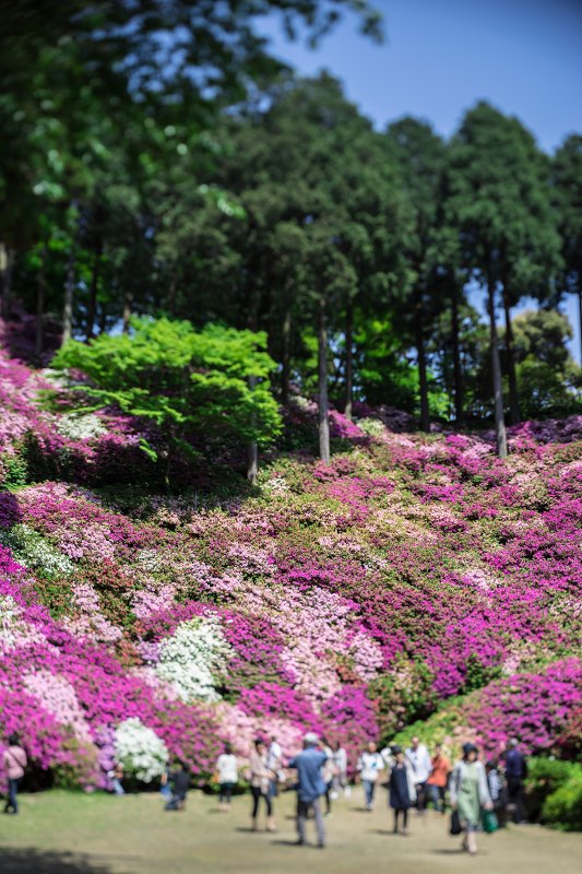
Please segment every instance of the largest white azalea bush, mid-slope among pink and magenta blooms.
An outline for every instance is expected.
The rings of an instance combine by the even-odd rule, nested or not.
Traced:
[[[217,701],[216,676],[231,656],[218,619],[197,617],[180,623],[162,642],[156,674],[173,683],[182,701]]]

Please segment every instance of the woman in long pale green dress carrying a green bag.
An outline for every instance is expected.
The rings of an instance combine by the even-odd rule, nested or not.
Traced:
[[[465,830],[463,850],[477,852],[476,831],[480,826],[482,811],[491,811],[492,802],[487,787],[483,761],[477,758],[477,747],[464,744],[463,758],[456,763],[451,777],[451,807],[459,812]]]

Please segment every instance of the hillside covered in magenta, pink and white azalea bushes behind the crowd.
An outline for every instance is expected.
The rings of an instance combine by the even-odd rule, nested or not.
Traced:
[[[503,463],[334,413],[330,466],[280,454],[201,501],[98,491],[139,479],[139,428],[43,412],[46,379],[0,359],[0,733],[39,769],[150,781],[169,753],[204,779],[222,741],[306,728],[353,759],[431,713],[449,743],[575,752],[581,417],[520,426]]]

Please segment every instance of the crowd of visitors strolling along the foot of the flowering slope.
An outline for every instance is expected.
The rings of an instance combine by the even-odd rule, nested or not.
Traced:
[[[17,790],[27,761],[15,734],[8,739],[2,764],[8,778],[4,813],[17,814]],[[391,745],[379,751],[376,742],[369,741],[355,764],[355,779],[363,786],[366,811],[373,810],[378,787],[388,790],[394,834],[407,834],[411,808],[421,816],[429,805],[440,814],[450,807],[451,834],[463,835],[462,846],[468,853],[477,851],[476,834],[482,828],[503,827],[510,812],[514,823],[524,820],[526,776],[526,758],[516,739],[499,757],[486,760],[474,744],[466,743],[454,766],[441,744],[436,744],[430,754],[417,736],[404,749]],[[110,778],[112,792],[124,794],[121,765],[114,767]],[[305,735],[301,752],[292,756],[284,754],[276,737],[269,743],[259,737],[242,767],[231,745],[225,744],[214,775],[221,811],[230,810],[241,778],[250,786],[252,831],[259,830],[263,811],[266,830],[276,831],[275,799],[283,788],[293,787],[297,793],[297,843],[307,842],[307,823],[312,818],[321,848],[325,847],[324,817],[331,816],[333,801],[341,794],[348,798],[352,792],[345,748],[312,732]],[[175,761],[168,767],[161,787],[167,811],[185,810],[190,782],[187,764]]]

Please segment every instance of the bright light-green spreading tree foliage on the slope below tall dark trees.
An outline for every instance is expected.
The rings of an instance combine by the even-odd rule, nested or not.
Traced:
[[[189,438],[235,437],[268,445],[281,420],[269,376],[266,338],[217,324],[194,331],[187,321],[134,319],[130,334],[71,341],[52,366],[90,379],[79,406],[115,405],[151,421],[170,451],[191,453]],[[154,450],[144,446],[151,458]]]

